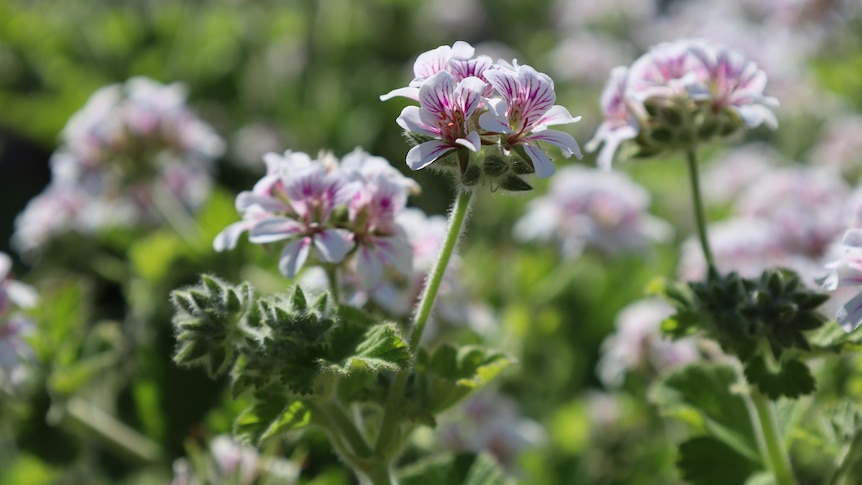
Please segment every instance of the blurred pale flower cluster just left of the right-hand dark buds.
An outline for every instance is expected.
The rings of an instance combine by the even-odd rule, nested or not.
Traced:
[[[693,338],[666,340],[661,323],[675,313],[666,302],[650,298],[634,302],[617,315],[616,332],[602,343],[598,375],[609,387],[623,384],[625,374],[637,369],[662,372],[698,358]]]

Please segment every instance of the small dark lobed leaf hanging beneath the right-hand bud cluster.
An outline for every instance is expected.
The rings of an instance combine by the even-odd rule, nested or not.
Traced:
[[[811,370],[796,359],[781,362],[781,368],[773,371],[767,367],[764,357],[758,356],[745,364],[745,377],[772,400],[781,396],[795,399],[817,389]]]

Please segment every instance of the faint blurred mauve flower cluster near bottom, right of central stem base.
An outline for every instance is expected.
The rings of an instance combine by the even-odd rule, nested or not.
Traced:
[[[547,439],[545,429],[522,417],[514,401],[491,391],[470,396],[456,411],[442,418],[437,429],[450,450],[490,453],[510,471],[521,450]]]

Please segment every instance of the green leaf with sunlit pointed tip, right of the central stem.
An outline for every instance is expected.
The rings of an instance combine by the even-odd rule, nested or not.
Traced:
[[[420,353],[417,372],[424,386],[420,409],[436,415],[497,377],[515,359],[482,347],[441,345],[432,354]]]

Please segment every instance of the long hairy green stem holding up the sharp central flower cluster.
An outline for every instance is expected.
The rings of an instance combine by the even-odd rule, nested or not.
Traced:
[[[461,228],[464,226],[467,213],[470,211],[471,196],[470,192],[459,192],[452,206],[452,213],[449,215],[449,227],[446,230],[443,247],[437,256],[437,262],[428,275],[425,291],[422,293],[422,298],[419,300],[419,305],[413,318],[413,329],[410,334],[410,351],[414,357],[419,348],[419,341],[422,339],[422,332],[425,331],[425,324],[428,323],[428,317],[431,316],[434,301],[437,299],[440,282],[443,281],[443,275],[446,273],[449,259],[452,258],[452,253],[455,251],[455,246],[458,244],[458,238],[461,235]],[[404,388],[407,385],[409,375],[409,368],[398,372],[395,375],[395,380],[392,382],[389,396],[386,398],[386,407],[383,410],[383,422],[380,425],[380,434],[377,436],[377,443],[374,448],[375,454],[379,456],[385,457],[387,455],[387,448],[398,429],[400,418],[399,405],[403,398]]]

